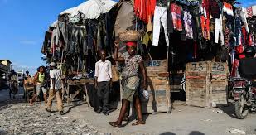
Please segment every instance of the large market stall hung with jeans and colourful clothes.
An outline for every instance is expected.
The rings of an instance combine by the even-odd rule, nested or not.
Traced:
[[[118,75],[122,65],[112,58],[114,41],[120,40],[119,34],[124,31],[139,31],[137,52],[145,60],[150,92],[149,99],[142,99],[143,112],[170,112],[170,89],[181,89],[181,78],[185,73],[189,76],[191,69],[186,64],[212,61],[225,65],[225,73],[221,73],[225,76],[220,80],[207,82],[207,77],[203,79],[205,84],[212,84],[213,93],[218,83],[227,82],[234,58],[242,58],[244,48],[255,45],[255,25],[251,19],[254,17],[246,19],[247,12],[248,9],[239,7],[234,0],[89,0],[60,13],[58,20],[46,31],[41,51],[46,55],[44,60],[60,65],[66,95],[71,101],[79,92],[70,95],[72,90],[68,86],[81,84],[85,89],[86,83],[81,80],[93,83],[94,64],[99,60],[100,49],[107,51],[107,58]],[[120,44],[119,55],[125,51],[124,42]],[[184,79],[191,80],[187,76]],[[191,81],[183,83],[186,89],[189,83]],[[221,84],[219,94],[224,99],[225,84]],[[80,91],[86,94],[86,90]],[[194,95],[186,99],[191,96]]]

